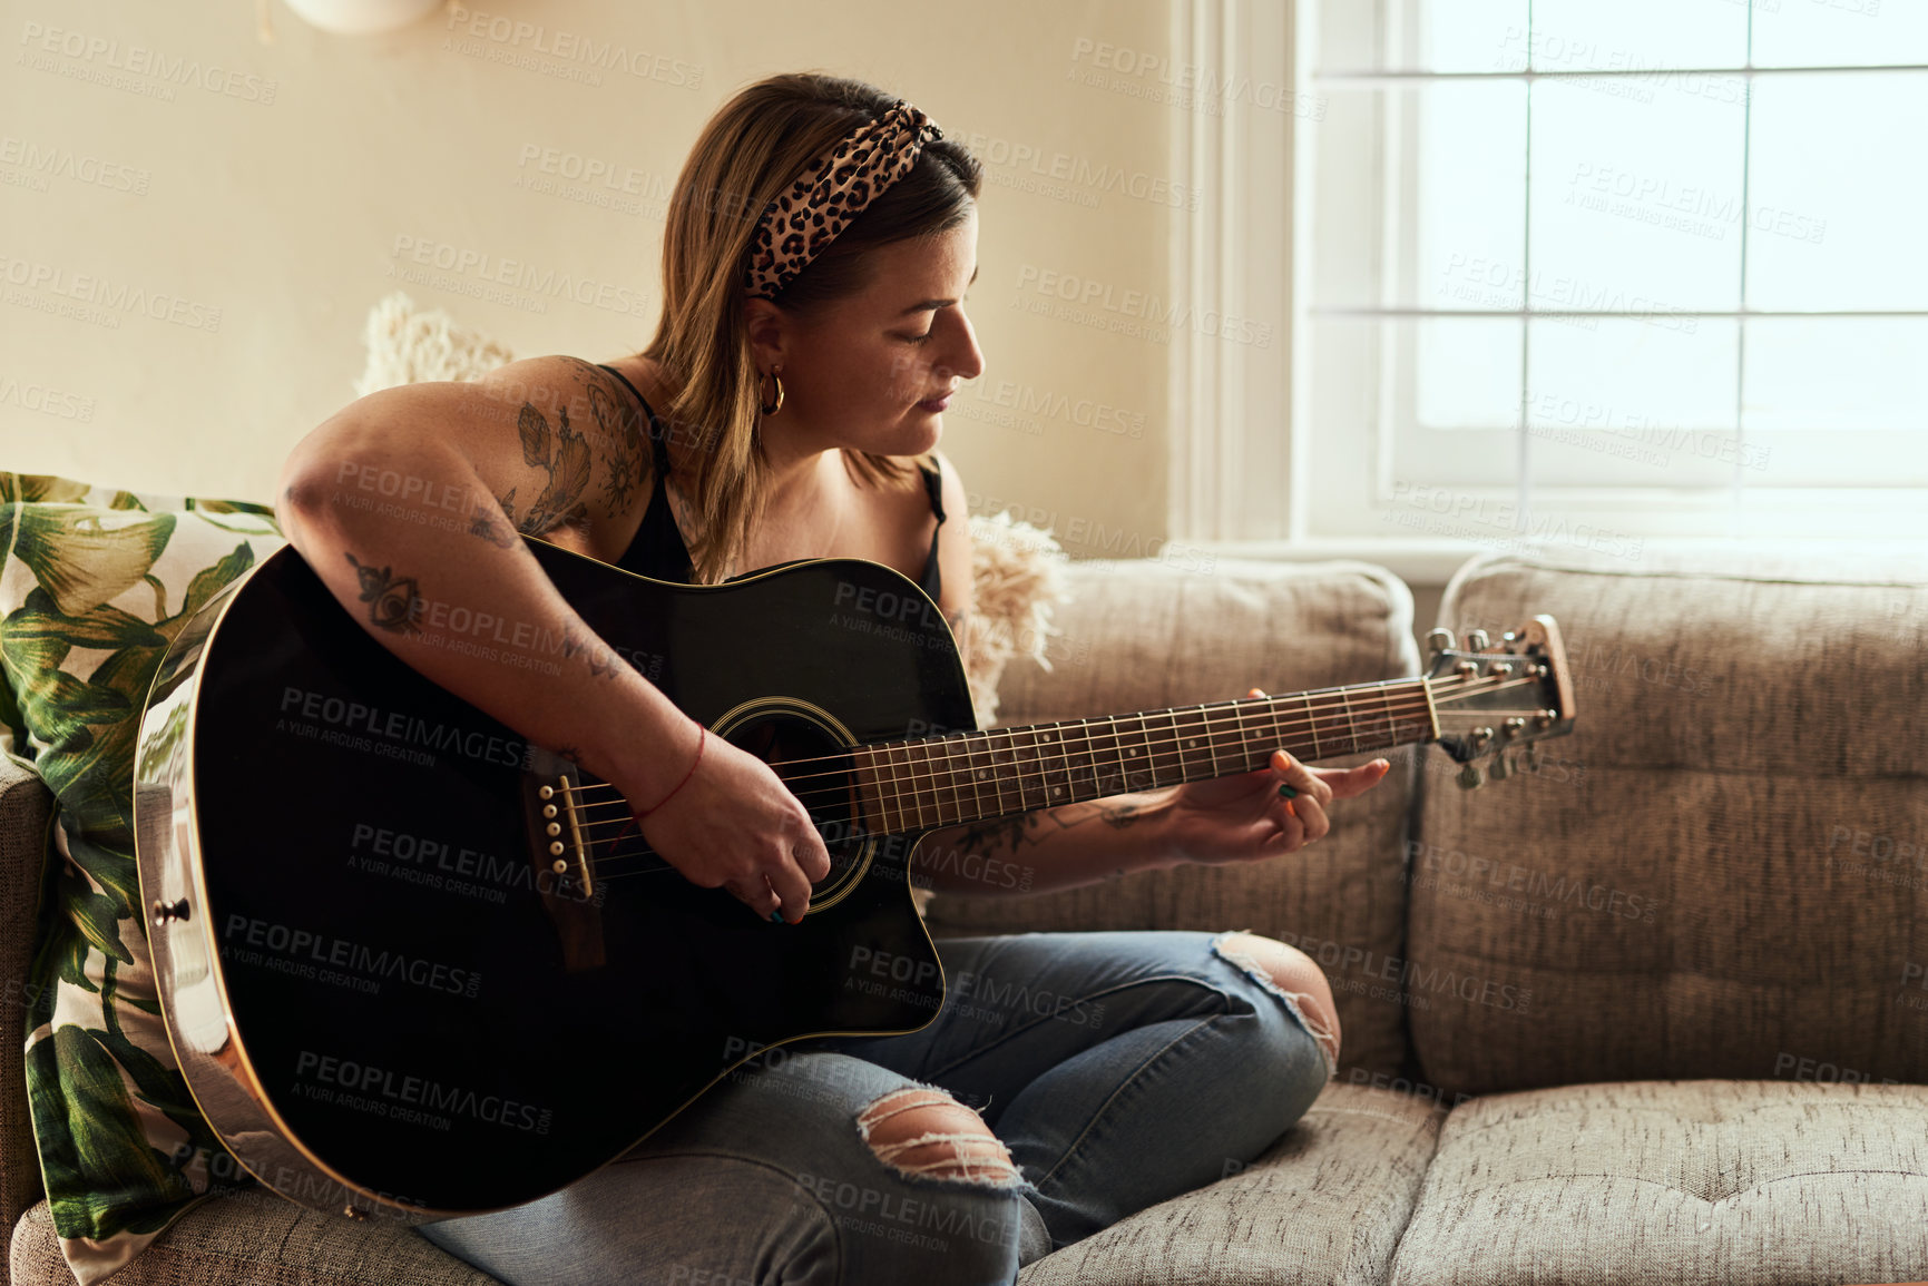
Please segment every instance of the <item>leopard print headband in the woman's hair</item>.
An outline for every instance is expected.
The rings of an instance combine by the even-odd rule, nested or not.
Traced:
[[[748,295],[775,299],[864,206],[910,174],[925,143],[943,137],[937,121],[898,98],[879,120],[804,166],[756,226],[744,268]]]

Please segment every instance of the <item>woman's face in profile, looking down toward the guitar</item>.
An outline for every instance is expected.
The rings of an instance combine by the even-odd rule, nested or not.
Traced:
[[[937,445],[943,407],[960,380],[983,372],[964,291],[977,276],[977,212],[933,237],[871,253],[870,287],[829,303],[808,322],[783,316],[783,411],[763,416],[765,440],[798,449],[848,447],[916,455]],[[762,328],[752,326],[752,334]],[[767,334],[767,332],[765,332]]]

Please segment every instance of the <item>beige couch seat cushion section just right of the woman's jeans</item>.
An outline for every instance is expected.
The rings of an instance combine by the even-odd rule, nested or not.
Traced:
[[[1377,1286],[1442,1109],[1328,1085],[1255,1163],[1041,1259],[1018,1286]]]

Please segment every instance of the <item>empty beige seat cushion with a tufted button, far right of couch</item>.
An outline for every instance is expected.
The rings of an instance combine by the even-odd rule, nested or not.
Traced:
[[[1928,1276],[1928,1087],[1575,1085],[1446,1118],[1394,1286]]]

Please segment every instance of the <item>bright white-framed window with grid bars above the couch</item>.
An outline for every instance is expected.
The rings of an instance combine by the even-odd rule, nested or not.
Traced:
[[[1301,0],[1294,530],[1928,534],[1928,4]]]

